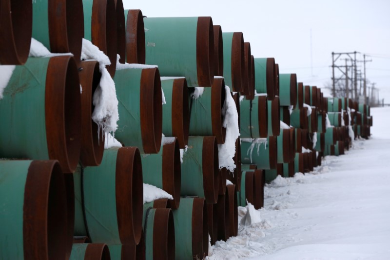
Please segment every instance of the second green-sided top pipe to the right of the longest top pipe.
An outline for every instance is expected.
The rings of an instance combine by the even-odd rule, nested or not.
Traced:
[[[266,93],[268,100],[275,98],[275,59],[254,59],[254,88],[257,93]]]

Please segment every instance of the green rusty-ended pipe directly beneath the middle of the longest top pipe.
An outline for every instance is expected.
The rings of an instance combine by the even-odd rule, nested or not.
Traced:
[[[177,137],[180,149],[188,144],[189,106],[185,78],[161,78],[166,104],[162,106],[162,132],[166,137]]]

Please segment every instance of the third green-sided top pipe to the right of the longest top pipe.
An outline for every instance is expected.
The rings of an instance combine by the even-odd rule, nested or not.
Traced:
[[[296,74],[279,74],[279,99],[281,106],[296,106]]]

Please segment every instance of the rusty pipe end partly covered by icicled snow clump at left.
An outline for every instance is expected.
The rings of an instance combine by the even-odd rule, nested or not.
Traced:
[[[92,96],[100,82],[99,63],[96,60],[81,61],[79,71],[81,92],[81,153],[80,162],[85,166],[97,166],[103,158],[105,135],[98,133],[98,124],[92,118],[95,106]]]

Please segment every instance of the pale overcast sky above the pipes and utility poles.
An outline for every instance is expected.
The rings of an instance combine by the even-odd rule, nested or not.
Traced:
[[[280,73],[296,73],[308,85],[331,83],[332,51],[365,53],[372,59],[367,79],[390,103],[390,0],[123,0],[123,5],[148,17],[211,16],[223,32],[243,32],[255,58],[274,57]],[[358,65],[363,72],[363,63]]]

